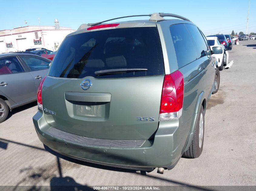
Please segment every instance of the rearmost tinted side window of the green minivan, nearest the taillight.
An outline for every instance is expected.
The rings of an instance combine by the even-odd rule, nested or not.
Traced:
[[[181,68],[198,58],[194,42],[184,24],[170,26],[171,38],[174,44],[178,68]]]

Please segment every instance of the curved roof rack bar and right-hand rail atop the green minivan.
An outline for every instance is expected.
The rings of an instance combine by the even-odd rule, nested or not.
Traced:
[[[149,20],[151,20],[151,21],[162,21],[162,20],[165,20],[163,17],[175,17],[175,18],[180,18],[180,19],[185,20],[185,21],[190,21],[189,19],[187,19],[185,17],[182,17],[182,16],[179,16],[177,14],[153,13],[153,14],[139,14],[139,15],[130,15],[130,16],[124,16],[124,17],[117,17],[117,18],[106,20],[106,21],[101,21],[101,22],[98,22],[98,23],[88,23],[88,26],[92,27],[92,26],[95,26],[95,25],[98,25],[98,24],[101,24],[101,23],[105,23],[105,22],[108,22],[108,21],[112,21],[112,20],[116,20],[116,19],[121,19],[121,18],[143,17],[143,16],[149,16],[150,17]]]

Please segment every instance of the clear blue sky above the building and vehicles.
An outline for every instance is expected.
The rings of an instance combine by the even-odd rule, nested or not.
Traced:
[[[205,35],[246,32],[249,0],[0,0],[0,30],[28,25],[54,26],[77,30],[83,23],[95,23],[111,18],[152,14],[154,12],[181,15],[196,24]],[[149,19],[125,18],[111,22]],[[25,21],[28,23],[25,24]],[[248,33],[256,33],[256,0],[250,2]]]

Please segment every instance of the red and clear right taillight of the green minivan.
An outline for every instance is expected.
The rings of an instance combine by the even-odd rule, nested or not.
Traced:
[[[159,121],[179,119],[182,113],[184,97],[184,76],[177,70],[165,75]]]

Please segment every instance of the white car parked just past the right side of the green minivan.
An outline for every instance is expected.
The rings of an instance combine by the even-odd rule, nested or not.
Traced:
[[[222,47],[223,45],[221,46],[221,42],[217,37],[206,37],[206,39],[208,40],[208,43],[211,47],[213,56],[215,56],[218,61],[218,69],[220,71],[223,70],[224,54],[226,54]],[[225,58],[226,58],[226,55],[225,55]]]

